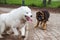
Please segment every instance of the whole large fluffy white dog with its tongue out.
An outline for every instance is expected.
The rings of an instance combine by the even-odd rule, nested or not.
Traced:
[[[31,9],[27,6],[21,6],[9,13],[0,15],[0,38],[7,27],[10,27],[14,35],[19,35],[17,27],[21,31],[21,35],[25,36],[26,21],[32,22]],[[24,25],[24,26],[22,26]]]

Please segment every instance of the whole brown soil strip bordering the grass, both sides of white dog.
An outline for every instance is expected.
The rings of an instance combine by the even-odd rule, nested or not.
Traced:
[[[0,4],[0,7],[6,7],[6,8],[17,8],[20,7],[21,5],[6,5],[6,4]],[[60,8],[37,8],[37,7],[30,7],[33,10],[48,10],[50,12],[54,12],[54,13],[60,13]]]

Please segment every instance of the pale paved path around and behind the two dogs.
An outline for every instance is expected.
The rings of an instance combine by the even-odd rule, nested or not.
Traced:
[[[0,13],[9,12],[13,8],[3,8],[0,7]],[[38,10],[37,10],[38,11]],[[33,13],[33,25],[29,25],[29,35],[27,40],[60,40],[60,14],[59,13],[50,13],[49,22],[47,22],[46,33],[43,30],[37,28],[33,29],[36,24],[35,13],[37,12],[32,10]],[[50,33],[50,34],[49,34]],[[50,36],[49,36],[50,35]],[[48,36],[48,38],[47,38]],[[59,36],[59,37],[58,37]]]

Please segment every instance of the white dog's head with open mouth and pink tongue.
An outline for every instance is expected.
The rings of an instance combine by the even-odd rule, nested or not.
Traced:
[[[23,18],[26,21],[32,22],[32,12],[31,9],[27,6],[22,6],[22,13],[23,13]]]

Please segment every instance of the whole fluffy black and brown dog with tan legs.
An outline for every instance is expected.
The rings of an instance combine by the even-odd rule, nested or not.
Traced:
[[[37,25],[35,26],[38,27],[39,23],[41,24],[42,26],[42,29],[46,29],[46,26],[47,26],[47,21],[49,19],[49,12],[47,10],[43,10],[43,11],[38,11],[36,12],[36,19],[37,19]]]

